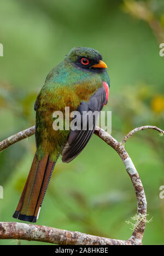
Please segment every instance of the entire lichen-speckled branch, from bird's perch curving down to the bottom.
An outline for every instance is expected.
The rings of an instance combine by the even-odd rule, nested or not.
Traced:
[[[120,156],[125,165],[126,171],[131,178],[134,190],[137,197],[137,221],[133,230],[132,236],[127,240],[114,240],[110,238],[98,237],[83,234],[80,232],[60,230],[50,228],[48,226],[31,225],[25,223],[0,223],[0,238],[1,239],[22,239],[56,243],[58,245],[142,245],[142,239],[145,230],[145,223],[147,218],[147,200],[144,193],[142,182],[140,181],[138,172],[125,150],[125,142],[134,133],[140,130],[154,129],[163,135],[164,131],[156,126],[142,126],[134,129],[122,139],[121,142],[116,141],[111,135],[99,127],[96,127],[95,134],[112,147]],[[0,142],[0,152],[11,146],[12,144],[21,141],[21,139],[30,137],[34,134],[35,126],[30,127],[24,131],[16,133],[15,135],[4,139]]]

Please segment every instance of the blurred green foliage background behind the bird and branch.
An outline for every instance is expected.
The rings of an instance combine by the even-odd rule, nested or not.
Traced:
[[[75,46],[97,49],[108,65],[112,135],[142,125],[164,129],[164,2],[1,0],[0,140],[34,125],[34,102],[46,75]],[[142,131],[126,144],[148,201],[144,245],[164,244],[163,137]],[[0,220],[12,215],[31,167],[34,136],[0,154]],[[77,159],[57,162],[37,224],[126,240],[136,214],[130,178],[116,152],[93,135]],[[19,221],[19,220],[18,220]],[[1,245],[17,245],[0,240]],[[21,241],[21,245],[42,242]]]

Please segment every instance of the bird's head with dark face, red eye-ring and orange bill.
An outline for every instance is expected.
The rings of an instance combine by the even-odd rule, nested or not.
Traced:
[[[103,71],[107,68],[106,63],[102,61],[102,55],[97,50],[86,47],[73,48],[65,57],[66,61],[71,62],[78,68],[90,71]]]

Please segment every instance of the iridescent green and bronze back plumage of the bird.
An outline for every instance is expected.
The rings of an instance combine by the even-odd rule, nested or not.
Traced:
[[[67,61],[61,62],[48,74],[36,103],[36,143],[38,157],[50,154],[52,160],[67,141],[69,131],[54,131],[52,128],[54,111],[59,110],[65,118],[65,107],[70,113],[77,110],[81,101],[89,100],[103,80],[108,83],[108,75],[81,71]]]

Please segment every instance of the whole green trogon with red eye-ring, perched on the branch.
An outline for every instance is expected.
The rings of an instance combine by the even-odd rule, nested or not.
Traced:
[[[72,161],[95,131],[96,120],[92,129],[54,130],[52,113],[65,113],[65,107],[70,112],[78,110],[81,116],[83,112],[100,112],[108,102],[109,84],[107,65],[92,48],[73,48],[50,71],[34,105],[37,150],[14,218],[36,222],[58,157],[61,155],[63,162]]]

